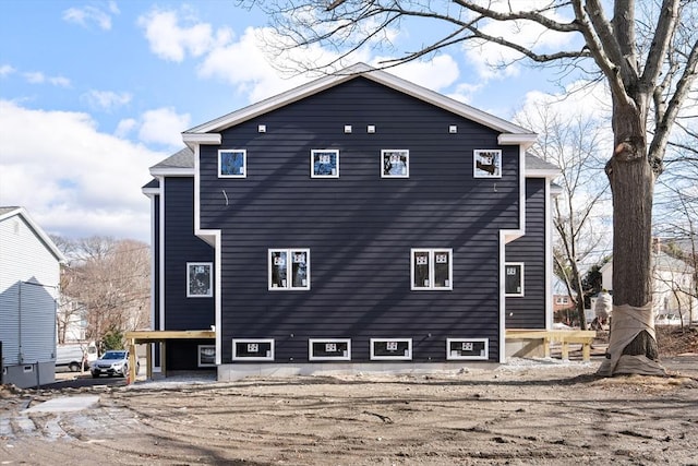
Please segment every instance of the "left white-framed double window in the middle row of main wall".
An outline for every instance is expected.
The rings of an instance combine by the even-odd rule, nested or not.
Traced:
[[[269,249],[269,289],[310,289],[310,250]]]

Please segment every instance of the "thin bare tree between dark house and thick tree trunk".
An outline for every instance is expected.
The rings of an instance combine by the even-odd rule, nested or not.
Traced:
[[[609,132],[604,134],[606,121],[565,110],[565,103],[540,101],[518,112],[516,121],[539,134],[529,152],[562,169],[555,179],[562,193],[553,205],[554,270],[586,328],[585,297],[590,290],[583,285],[585,268],[598,262],[605,239],[603,225],[611,220],[610,213],[603,212],[609,183],[598,176],[603,168],[600,154],[610,141],[605,138]]]

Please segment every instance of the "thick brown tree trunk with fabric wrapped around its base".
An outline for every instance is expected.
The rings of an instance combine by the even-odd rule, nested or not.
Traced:
[[[606,355],[607,359],[599,372],[604,375],[655,374],[659,358],[651,312],[650,261],[652,195],[657,174],[647,153],[645,111],[641,106],[638,108],[617,100],[614,98],[615,150],[606,164],[614,206],[613,313],[611,314],[610,354]],[[622,318],[617,315],[621,312],[635,315],[615,319]],[[614,325],[616,321],[623,323]],[[635,357],[629,367],[624,367],[623,363],[626,355]]]

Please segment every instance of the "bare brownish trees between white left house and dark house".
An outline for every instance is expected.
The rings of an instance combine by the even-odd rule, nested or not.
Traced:
[[[70,319],[74,321],[72,315],[79,313],[86,324],[86,339],[113,347],[113,335],[122,338],[128,331],[148,326],[147,244],[109,237],[55,238],[55,242],[69,259],[61,278],[64,302],[59,310],[59,330],[64,333]]]

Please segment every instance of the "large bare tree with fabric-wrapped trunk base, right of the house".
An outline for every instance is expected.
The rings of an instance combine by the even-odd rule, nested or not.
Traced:
[[[387,68],[454,46],[496,44],[541,65],[588,72],[611,91],[613,150],[605,166],[613,198],[614,322],[626,315],[623,332],[612,332],[611,359],[602,373],[658,373],[659,353],[651,319],[652,196],[663,171],[670,132],[696,80],[697,4],[688,0],[547,0],[540,2],[455,0],[423,2],[309,0],[254,2],[278,34],[279,52],[333,46],[326,62],[339,64],[354,51],[395,47],[389,31],[419,21],[424,43],[416,50],[390,49]],[[611,3],[611,4],[610,4]],[[526,10],[520,10],[525,4]],[[532,4],[538,7],[531,7]],[[609,11],[606,11],[609,10]],[[491,25],[508,26],[505,34]],[[533,39],[517,34],[527,26]],[[502,31],[502,29],[500,29]],[[429,34],[426,34],[429,32]],[[570,37],[558,49],[543,36]],[[310,55],[317,60],[316,55]],[[297,63],[300,65],[301,63]],[[506,64],[506,63],[504,63]],[[648,133],[651,136],[648,138]],[[626,340],[628,334],[635,335]],[[624,356],[628,358],[624,358]],[[621,365],[621,360],[634,361]]]

